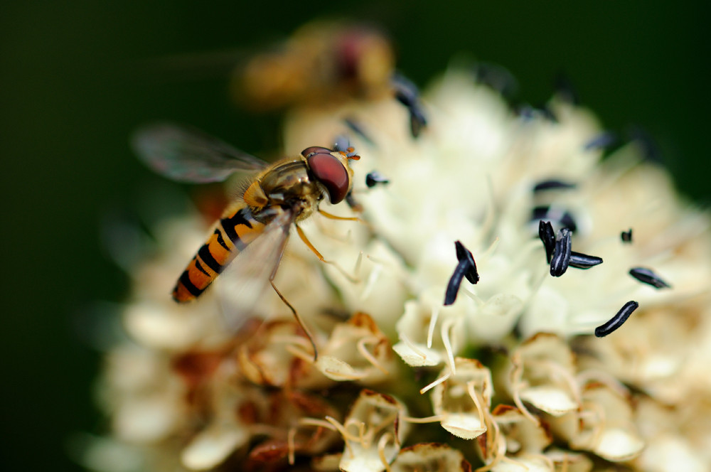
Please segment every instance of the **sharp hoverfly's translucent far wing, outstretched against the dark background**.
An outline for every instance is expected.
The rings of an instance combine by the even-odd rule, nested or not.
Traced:
[[[138,129],[131,145],[146,166],[178,182],[219,182],[234,172],[267,166],[261,159],[197,129],[171,123]]]

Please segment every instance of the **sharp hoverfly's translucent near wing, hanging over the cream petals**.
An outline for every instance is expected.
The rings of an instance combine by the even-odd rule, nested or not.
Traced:
[[[291,210],[275,210],[276,218],[264,228],[215,281],[215,292],[222,306],[228,329],[236,331],[248,316],[260,311],[260,300],[277,269],[294,222]]]

